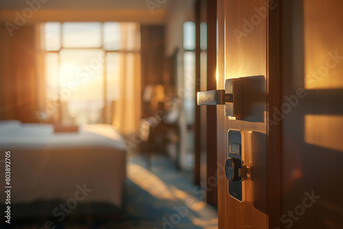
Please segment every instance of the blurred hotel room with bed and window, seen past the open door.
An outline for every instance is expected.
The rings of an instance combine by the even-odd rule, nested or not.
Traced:
[[[217,227],[194,1],[2,1],[0,21],[1,228]]]

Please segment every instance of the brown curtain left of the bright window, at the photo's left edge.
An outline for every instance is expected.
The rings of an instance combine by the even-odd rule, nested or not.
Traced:
[[[0,119],[37,122],[38,80],[36,26],[25,25],[10,36],[0,26]]]

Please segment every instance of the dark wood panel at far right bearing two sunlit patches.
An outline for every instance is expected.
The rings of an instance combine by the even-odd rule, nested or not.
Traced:
[[[281,228],[343,225],[343,63],[322,78],[318,71],[335,63],[327,65],[330,52],[342,56],[342,7],[340,0],[301,0],[281,9],[283,97],[307,89],[283,119]]]

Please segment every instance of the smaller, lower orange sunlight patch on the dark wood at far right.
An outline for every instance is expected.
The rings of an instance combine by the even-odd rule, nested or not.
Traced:
[[[305,115],[306,143],[343,152],[342,136],[343,116]]]

